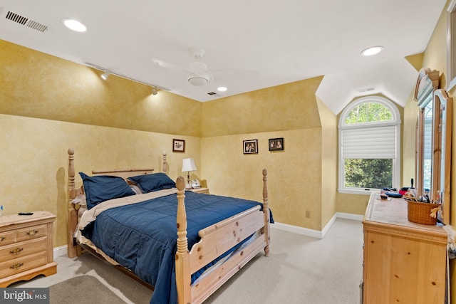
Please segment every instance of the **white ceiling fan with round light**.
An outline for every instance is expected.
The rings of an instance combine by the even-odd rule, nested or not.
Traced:
[[[182,70],[181,68],[177,68],[175,65],[165,63],[157,59],[154,60],[154,63],[167,70],[172,70],[178,73],[185,73],[187,76],[187,81],[191,85],[200,87],[202,85],[207,85],[214,79],[214,75],[210,70],[207,69],[206,63],[202,62],[203,55],[204,50],[202,48],[195,48],[193,50],[195,61],[189,63],[187,70]]]

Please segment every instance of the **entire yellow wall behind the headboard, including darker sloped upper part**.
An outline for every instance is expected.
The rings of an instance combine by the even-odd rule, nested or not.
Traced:
[[[169,174],[200,159],[200,103],[0,41],[0,204],[4,213],[57,215],[54,246],[66,241],[67,150],[76,172],[153,167],[167,152]],[[185,113],[183,115],[182,113]],[[190,115],[189,115],[190,114]],[[172,152],[172,139],[185,153]],[[194,172],[199,174],[199,171]],[[76,184],[81,179],[77,177]]]

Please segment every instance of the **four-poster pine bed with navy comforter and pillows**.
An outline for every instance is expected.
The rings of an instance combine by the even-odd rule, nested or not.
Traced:
[[[262,203],[186,191],[183,177],[170,182],[153,169],[80,172],[81,187],[75,172],[69,149],[68,256],[103,258],[152,288],[150,303],[202,303],[258,253],[269,254],[266,169]],[[135,193],[106,199],[128,192],[123,183]]]

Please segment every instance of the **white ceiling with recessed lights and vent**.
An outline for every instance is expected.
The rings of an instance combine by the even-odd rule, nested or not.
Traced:
[[[0,0],[0,38],[201,102],[324,75],[316,94],[338,114],[371,93],[405,105],[418,72],[404,57],[425,51],[446,0],[113,2]],[[63,18],[88,31],[70,31]],[[370,46],[384,50],[361,56]],[[187,81],[195,48],[213,72],[207,85]]]

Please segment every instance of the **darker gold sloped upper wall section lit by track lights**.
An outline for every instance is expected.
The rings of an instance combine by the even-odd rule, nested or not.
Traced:
[[[0,113],[200,136],[201,103],[0,41]]]

